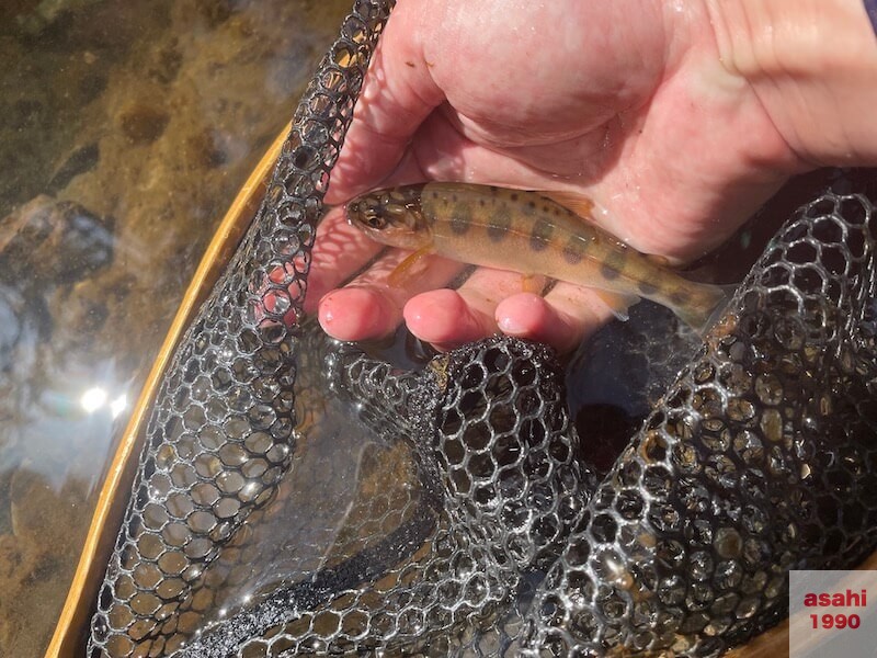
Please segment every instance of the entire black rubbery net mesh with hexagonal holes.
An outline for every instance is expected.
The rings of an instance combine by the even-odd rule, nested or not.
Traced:
[[[785,225],[600,476],[548,350],[493,338],[408,371],[299,322],[321,195],[390,4],[344,22],[175,354],[91,655],[713,656],[786,614],[790,568],[874,552],[864,195],[827,192]],[[667,355],[646,397],[675,372]],[[303,511],[314,498],[332,502]],[[303,517],[319,522],[297,543],[265,534]]]

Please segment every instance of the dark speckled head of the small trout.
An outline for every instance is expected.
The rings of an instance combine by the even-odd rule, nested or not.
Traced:
[[[351,225],[383,245],[417,250],[432,243],[419,196],[405,189],[362,194],[348,202],[345,212]]]

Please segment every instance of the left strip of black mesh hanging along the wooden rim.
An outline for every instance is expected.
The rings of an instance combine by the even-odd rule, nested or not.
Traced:
[[[203,622],[220,549],[296,444],[299,316],[321,200],[391,2],[356,2],[295,114],[259,216],[183,338],[92,620],[94,655],[159,656]],[[237,547],[240,551],[240,546]]]

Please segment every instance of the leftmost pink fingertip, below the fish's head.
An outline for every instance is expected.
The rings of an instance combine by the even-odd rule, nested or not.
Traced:
[[[332,291],[319,303],[320,327],[338,340],[369,340],[391,333],[399,311],[379,291],[348,287]]]

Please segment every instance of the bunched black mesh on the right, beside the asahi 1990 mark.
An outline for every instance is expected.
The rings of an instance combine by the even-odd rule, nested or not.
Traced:
[[[789,569],[874,552],[875,231],[833,193],[779,231],[599,486],[533,646],[716,655],[785,616]]]

